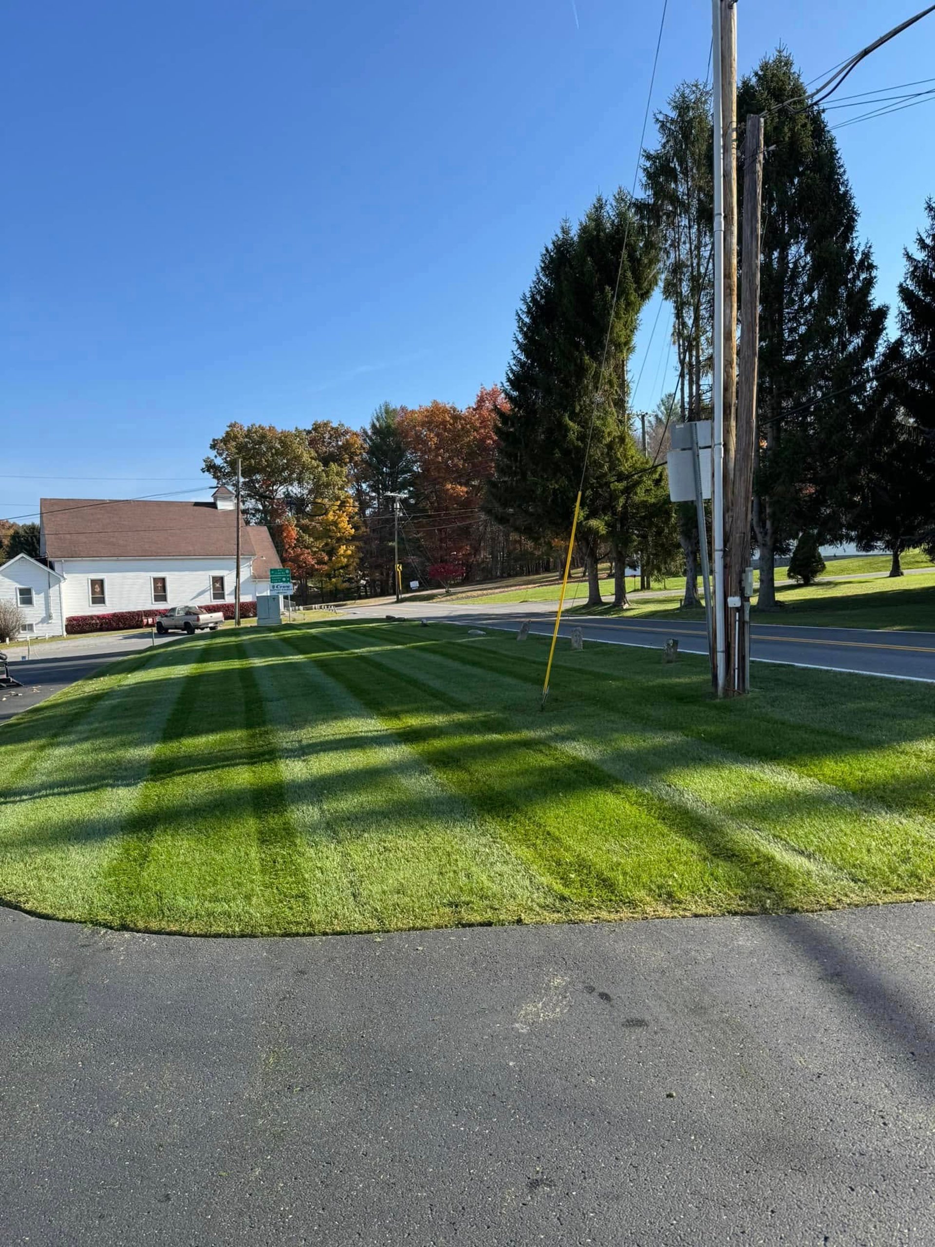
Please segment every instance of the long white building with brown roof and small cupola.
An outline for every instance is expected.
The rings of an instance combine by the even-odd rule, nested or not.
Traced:
[[[40,561],[4,564],[0,597],[20,602],[36,636],[61,636],[74,615],[233,602],[236,545],[223,485],[209,503],[44,498]],[[278,566],[269,530],[241,524],[241,600],[269,592]]]

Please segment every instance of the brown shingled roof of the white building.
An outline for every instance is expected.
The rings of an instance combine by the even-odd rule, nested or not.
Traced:
[[[40,500],[49,559],[213,559],[232,556],[236,513],[213,503],[123,501],[100,498]],[[241,525],[241,547],[266,577],[279,559],[263,525]]]

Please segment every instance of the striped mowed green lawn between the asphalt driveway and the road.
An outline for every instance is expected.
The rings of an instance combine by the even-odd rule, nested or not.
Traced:
[[[409,622],[162,646],[0,733],[0,897],[204,934],[935,895],[928,686]]]

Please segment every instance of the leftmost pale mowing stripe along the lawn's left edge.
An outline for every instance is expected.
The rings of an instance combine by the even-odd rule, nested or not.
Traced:
[[[110,913],[107,865],[191,660],[188,646],[160,650],[105,677],[107,695],[92,695],[87,713],[71,717],[72,731],[41,751],[29,786],[20,774],[2,812],[5,900],[86,922]]]

